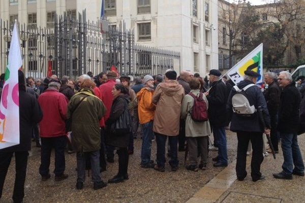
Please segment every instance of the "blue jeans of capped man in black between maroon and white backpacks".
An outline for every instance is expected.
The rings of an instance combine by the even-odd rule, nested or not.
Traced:
[[[228,164],[228,154],[227,154],[227,137],[225,126],[223,127],[212,127],[213,133],[218,139],[218,162]]]

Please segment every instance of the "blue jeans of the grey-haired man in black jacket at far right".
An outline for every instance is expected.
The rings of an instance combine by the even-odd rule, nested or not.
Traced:
[[[280,132],[280,136],[284,156],[283,172],[286,175],[291,175],[293,171],[304,172],[304,162],[297,144],[297,134]]]

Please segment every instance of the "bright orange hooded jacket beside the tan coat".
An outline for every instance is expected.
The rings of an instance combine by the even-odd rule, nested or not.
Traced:
[[[154,89],[144,87],[137,93],[140,124],[145,124],[154,120],[156,109],[156,106],[153,104],[154,92]]]

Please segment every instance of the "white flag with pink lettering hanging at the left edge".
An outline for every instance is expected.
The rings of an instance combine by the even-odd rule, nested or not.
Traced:
[[[21,66],[19,33],[15,22],[0,103],[0,149],[20,142],[18,70]]]

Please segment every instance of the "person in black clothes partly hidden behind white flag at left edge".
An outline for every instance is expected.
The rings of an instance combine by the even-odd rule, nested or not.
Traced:
[[[34,95],[25,91],[25,78],[22,71],[18,71],[18,83],[20,144],[0,150],[0,198],[13,154],[15,154],[14,202],[23,201],[28,151],[31,151],[32,130],[33,126],[42,120],[42,111],[37,99]]]

